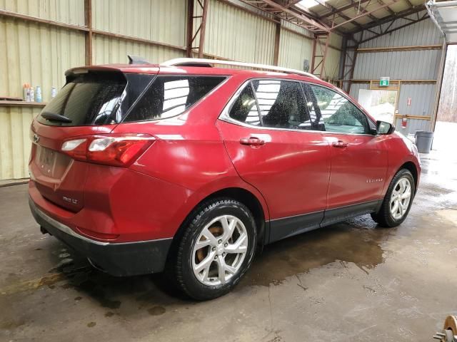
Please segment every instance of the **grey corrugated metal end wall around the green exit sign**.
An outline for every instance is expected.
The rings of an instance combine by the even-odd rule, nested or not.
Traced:
[[[422,13],[423,14],[423,13]],[[419,13],[419,16],[422,15]],[[416,14],[411,16],[416,19]],[[411,21],[399,19],[391,28],[396,28]],[[388,26],[389,23],[385,24]],[[371,38],[373,33],[363,32],[363,39]],[[360,35],[356,38],[361,38]],[[428,46],[442,43],[441,35],[430,19],[420,21],[391,34],[373,38],[362,43],[360,48],[380,48],[386,46]],[[389,76],[392,80],[436,80],[441,58],[440,50],[415,50],[358,53],[353,79],[378,80],[381,76]],[[368,83],[353,83],[351,96],[358,98],[360,89],[368,89]],[[411,98],[411,105],[407,105]],[[399,115],[433,116],[436,103],[436,84],[402,83],[398,97]],[[406,129],[401,127],[401,118],[395,122],[402,133],[415,133],[417,130],[429,130],[431,120],[408,119]]]

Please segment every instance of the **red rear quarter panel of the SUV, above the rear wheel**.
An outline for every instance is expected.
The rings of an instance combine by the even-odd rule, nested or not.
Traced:
[[[130,169],[186,189],[181,207],[176,208],[171,227],[179,227],[201,200],[214,192],[240,187],[253,193],[266,219],[268,208],[260,192],[238,176],[221,140],[216,120],[226,102],[246,79],[231,76],[186,113],[165,120],[123,123],[113,133],[146,133],[156,138]],[[166,191],[154,192],[163,201],[174,202]],[[174,202],[176,203],[176,202]]]

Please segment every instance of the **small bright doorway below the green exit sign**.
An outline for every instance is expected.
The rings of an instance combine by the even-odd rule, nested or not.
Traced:
[[[358,91],[358,103],[376,120],[394,123],[397,90]]]

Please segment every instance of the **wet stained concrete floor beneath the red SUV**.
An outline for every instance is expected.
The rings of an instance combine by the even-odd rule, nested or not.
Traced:
[[[431,341],[457,314],[457,162],[423,160],[408,219],[368,216],[266,247],[229,295],[114,278],[42,235],[0,188],[0,341]]]

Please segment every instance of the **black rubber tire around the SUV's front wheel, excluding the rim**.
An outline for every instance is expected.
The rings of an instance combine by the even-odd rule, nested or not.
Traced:
[[[408,208],[406,212],[400,219],[395,219],[391,214],[391,195],[393,192],[393,187],[397,184],[398,180],[401,178],[407,178],[411,185],[411,199],[409,200]],[[381,227],[396,227],[401,224],[406,217],[408,216],[409,209],[411,209],[411,204],[413,204],[414,195],[416,195],[416,184],[414,182],[413,175],[411,172],[406,169],[401,169],[396,173],[393,177],[391,184],[389,185],[386,196],[383,199],[383,203],[381,204],[381,209],[378,212],[372,213],[371,218],[377,222]]]

